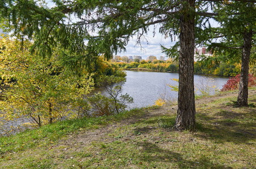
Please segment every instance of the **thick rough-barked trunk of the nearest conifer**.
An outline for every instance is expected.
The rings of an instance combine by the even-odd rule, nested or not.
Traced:
[[[184,0],[180,24],[180,57],[178,111],[175,128],[193,130],[195,128],[194,95],[194,25],[195,0]]]

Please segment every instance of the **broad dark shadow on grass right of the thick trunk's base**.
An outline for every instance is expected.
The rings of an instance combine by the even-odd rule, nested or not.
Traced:
[[[218,112],[220,118],[214,121],[207,121],[207,114],[198,114],[200,122],[196,123],[197,132],[195,135],[204,139],[214,140],[217,143],[225,141],[236,144],[248,143],[256,139],[255,121],[251,121],[255,112],[234,113],[231,111]]]

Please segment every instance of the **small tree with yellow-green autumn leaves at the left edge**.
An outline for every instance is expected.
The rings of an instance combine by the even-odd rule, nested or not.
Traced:
[[[62,67],[57,55],[42,59],[27,50],[30,44],[0,41],[0,74],[5,90],[0,109],[7,119],[30,117],[37,126],[62,117],[80,117],[89,109],[83,96],[93,89],[91,77]],[[75,113],[71,109],[76,109]]]

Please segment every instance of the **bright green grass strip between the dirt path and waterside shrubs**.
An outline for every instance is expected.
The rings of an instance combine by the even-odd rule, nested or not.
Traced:
[[[108,117],[83,118],[61,121],[34,130],[27,130],[12,136],[0,137],[0,155],[6,152],[19,152],[39,145],[49,145],[63,136],[81,131],[104,127],[109,123],[121,121],[133,115],[142,115],[140,109],[133,109],[118,115]]]

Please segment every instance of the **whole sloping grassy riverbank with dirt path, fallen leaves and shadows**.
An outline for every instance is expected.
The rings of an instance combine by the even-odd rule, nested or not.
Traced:
[[[2,168],[254,168],[256,87],[196,100],[197,130],[172,130],[177,106],[63,121],[0,137]]]

